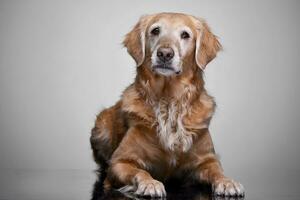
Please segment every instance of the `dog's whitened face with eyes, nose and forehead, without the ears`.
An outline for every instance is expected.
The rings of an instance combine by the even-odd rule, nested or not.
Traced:
[[[183,59],[195,49],[194,33],[185,18],[158,17],[146,31],[151,68],[170,76],[182,72]]]

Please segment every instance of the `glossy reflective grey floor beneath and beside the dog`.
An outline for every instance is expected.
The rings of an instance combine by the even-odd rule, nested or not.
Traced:
[[[246,188],[244,199],[299,200],[300,172],[243,173],[241,182]],[[168,200],[209,200],[209,188],[203,186],[167,186]],[[83,170],[1,170],[0,200],[127,200],[141,199],[118,192],[103,194],[97,175]],[[218,198],[226,199],[226,198]],[[228,198],[227,198],[228,199]],[[230,198],[236,199],[236,198]],[[241,199],[241,198],[240,198]],[[242,198],[243,199],[243,198]]]

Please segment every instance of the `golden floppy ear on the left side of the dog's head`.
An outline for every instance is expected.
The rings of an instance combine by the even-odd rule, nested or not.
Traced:
[[[133,29],[126,34],[123,41],[123,45],[127,48],[137,66],[143,64],[145,59],[145,32],[150,17],[150,15],[142,16]]]

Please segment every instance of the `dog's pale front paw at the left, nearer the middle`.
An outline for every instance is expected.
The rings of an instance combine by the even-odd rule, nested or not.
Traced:
[[[136,195],[151,197],[166,197],[167,193],[164,185],[157,180],[145,180],[138,184]]]

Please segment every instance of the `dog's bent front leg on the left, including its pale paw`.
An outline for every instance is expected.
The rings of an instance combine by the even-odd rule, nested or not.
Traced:
[[[149,144],[151,138],[148,137],[151,133],[148,131],[148,129],[141,127],[129,129],[112,156],[108,178],[113,182],[112,185],[123,186],[119,189],[121,192],[134,192],[141,196],[165,197],[164,185],[153,179],[150,173],[146,171],[156,151]]]

